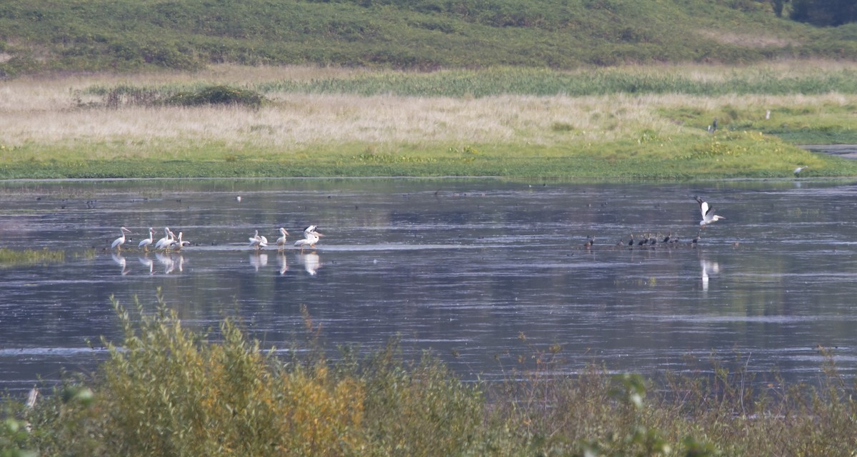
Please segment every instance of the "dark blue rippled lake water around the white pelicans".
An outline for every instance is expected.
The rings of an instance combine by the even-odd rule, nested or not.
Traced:
[[[726,218],[695,247],[693,195]],[[331,348],[399,335],[405,357],[430,350],[466,379],[508,376],[553,344],[569,373],[695,370],[716,354],[795,381],[820,376],[820,345],[853,376],[855,195],[853,182],[804,179],[4,182],[0,246],[66,256],[0,268],[0,390],[93,370],[99,338],[119,342],[111,296],[152,310],[159,288],[194,328],[238,314],[264,346],[288,348],[306,305]],[[285,227],[291,246],[310,224],[326,235],[314,252],[249,248],[255,230],[273,244]],[[132,249],[112,254],[122,225]],[[193,245],[136,251],[165,225]],[[669,232],[678,244],[615,246]]]

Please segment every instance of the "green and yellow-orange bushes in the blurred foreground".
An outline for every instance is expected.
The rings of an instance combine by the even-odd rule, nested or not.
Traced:
[[[857,404],[832,364],[816,387],[754,382],[735,364],[710,375],[574,377],[561,348],[535,351],[515,381],[466,384],[394,344],[339,362],[310,340],[287,360],[231,319],[183,328],[163,301],[132,319],[94,379],[34,406],[8,399],[0,455],[851,455]],[[309,334],[317,334],[305,315]],[[297,354],[298,352],[292,352]],[[832,362],[832,358],[830,358]]]

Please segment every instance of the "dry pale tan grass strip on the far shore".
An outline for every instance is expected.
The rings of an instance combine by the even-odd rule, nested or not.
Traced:
[[[779,64],[784,74],[812,71]],[[824,63],[836,69],[838,63]],[[771,68],[771,67],[766,67]],[[818,67],[817,67],[818,68]],[[852,67],[853,68],[853,67]],[[727,67],[628,68],[638,72],[678,72],[700,79],[734,73]],[[89,107],[96,96],[81,99],[81,89],[127,84],[207,82],[247,86],[264,81],[341,77],[369,70],[310,67],[245,68],[221,65],[201,73],[143,75],[71,75],[7,81],[0,87],[0,158],[23,144],[111,145],[93,149],[89,158],[148,157],[166,148],[219,144],[240,151],[273,148],[276,153],[336,144],[373,144],[394,149],[409,144],[512,144],[556,146],[634,139],[643,130],[661,137],[703,135],[704,126],[685,126],[659,111],[692,107],[716,112],[728,107],[763,119],[777,107],[855,105],[857,97],[818,96],[697,97],[680,94],[602,97],[496,96],[479,99],[400,96],[307,95],[269,93],[273,103],[258,110],[243,107]],[[742,71],[753,71],[746,69]],[[746,114],[749,113],[749,114]],[[178,147],[177,147],[178,146]],[[177,147],[177,148],[176,148]],[[5,153],[4,153],[5,151]],[[100,154],[100,155],[99,155]],[[157,155],[156,155],[157,156]]]

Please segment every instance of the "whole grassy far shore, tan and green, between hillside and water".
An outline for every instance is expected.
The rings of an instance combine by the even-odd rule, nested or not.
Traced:
[[[799,165],[810,166],[806,176],[854,177],[854,161],[795,146],[857,143],[849,79],[857,64],[797,61],[432,73],[223,65],[25,78],[0,87],[0,179],[686,180],[790,177]],[[264,102],[159,101],[213,85]]]

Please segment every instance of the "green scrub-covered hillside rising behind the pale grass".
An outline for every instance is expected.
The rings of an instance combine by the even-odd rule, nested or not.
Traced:
[[[0,75],[317,63],[398,69],[854,58],[857,26],[754,0],[4,0]]]

